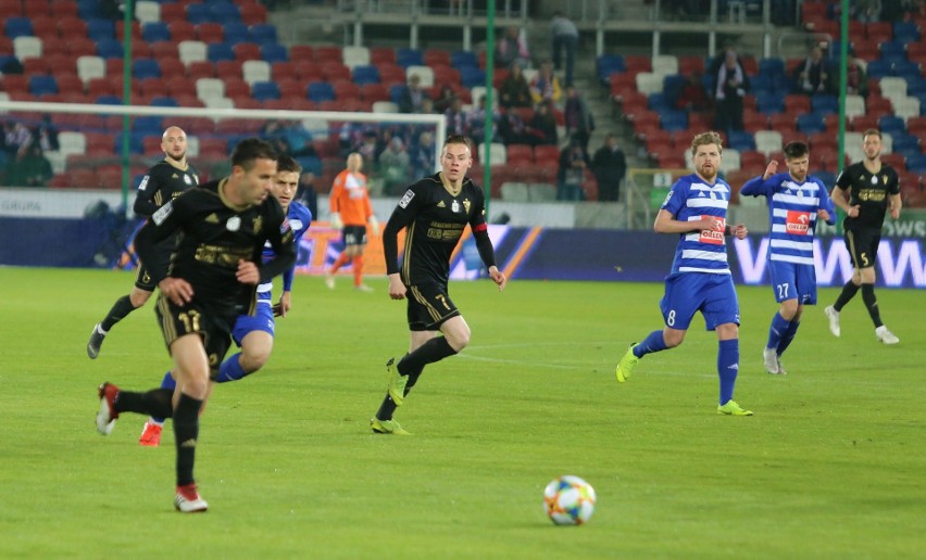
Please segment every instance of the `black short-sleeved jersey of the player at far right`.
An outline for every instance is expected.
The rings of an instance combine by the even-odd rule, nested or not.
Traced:
[[[856,217],[847,217],[842,222],[844,229],[881,229],[888,199],[900,193],[897,171],[884,163],[877,174],[866,169],[862,162],[854,163],[839,174],[836,186],[849,192],[850,206],[860,206]]]

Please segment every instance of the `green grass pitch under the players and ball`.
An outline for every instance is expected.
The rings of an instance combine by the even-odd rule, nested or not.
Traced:
[[[776,309],[739,288],[737,400],[715,413],[716,336],[647,356],[660,284],[453,283],[473,329],[427,368],[374,435],[384,364],[408,345],[404,304],[300,277],[263,371],[217,386],[197,479],[210,510],[173,510],[173,433],[138,445],[143,418],[93,428],[96,387],[155,386],[170,368],[149,304],[97,360],[90,329],[132,273],[0,268],[0,558],[912,558],[926,550],[926,293],[878,290],[901,344],[875,341],[861,297],[834,339],[822,290],[790,374],[762,370]],[[576,474],[591,521],[554,526],[542,489]]]

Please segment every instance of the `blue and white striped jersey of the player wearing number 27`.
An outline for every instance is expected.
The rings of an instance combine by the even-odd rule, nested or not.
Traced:
[[[740,194],[768,199],[769,260],[813,266],[816,213],[825,209],[829,224],[836,222],[836,208],[819,179],[808,175],[798,182],[790,174],[779,173],[763,181],[760,176],[747,181]]]

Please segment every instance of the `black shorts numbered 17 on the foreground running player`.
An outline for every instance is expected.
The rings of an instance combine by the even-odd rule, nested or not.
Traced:
[[[205,347],[205,355],[209,356],[210,376],[215,379],[218,374],[218,366],[222,365],[225,353],[232,346],[232,327],[237,316],[220,316],[197,305],[196,300],[177,306],[164,294],[158,296],[155,311],[167,352],[171,351],[171,344],[180,336],[199,334]]]

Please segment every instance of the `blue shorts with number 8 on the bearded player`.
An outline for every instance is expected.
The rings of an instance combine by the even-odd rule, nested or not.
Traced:
[[[665,279],[665,295],[659,304],[665,326],[688,330],[696,311],[701,311],[708,330],[718,324],[739,324],[739,302],[730,275],[685,272]]]

